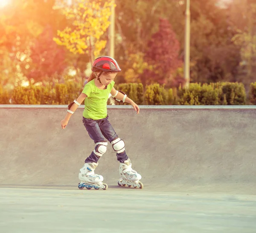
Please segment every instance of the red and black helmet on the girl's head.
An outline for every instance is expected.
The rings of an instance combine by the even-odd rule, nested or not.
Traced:
[[[102,56],[96,58],[92,65],[92,71],[96,72],[97,70],[101,70],[104,72],[113,71],[119,72],[121,71],[120,66],[114,58],[108,56]]]

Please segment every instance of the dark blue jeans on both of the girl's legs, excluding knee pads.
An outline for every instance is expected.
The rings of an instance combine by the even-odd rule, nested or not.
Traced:
[[[105,141],[105,138],[109,142],[112,142],[114,139],[118,138],[118,135],[108,121],[108,115],[106,118],[100,120],[87,119],[83,117],[83,123],[90,138],[93,139],[95,144],[101,141]],[[97,146],[95,147],[95,150],[96,148]],[[128,159],[125,151],[122,153],[116,153],[116,157],[117,160],[121,163]],[[86,158],[85,163],[97,163],[99,158],[100,157],[98,155],[96,155],[94,152],[91,152],[90,156]]]

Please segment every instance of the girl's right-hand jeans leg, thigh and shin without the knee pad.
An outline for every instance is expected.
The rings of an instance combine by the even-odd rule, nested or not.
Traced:
[[[118,135],[113,129],[111,123],[108,121],[108,116],[99,121],[99,128],[102,132],[102,135],[104,135],[104,137],[107,138],[108,141],[110,141],[110,143],[113,143],[113,141],[117,139],[118,139],[117,141],[119,141]],[[121,163],[123,163],[125,160],[128,159],[128,156],[125,150],[123,150],[122,152],[117,152],[116,157],[117,157],[117,160]]]

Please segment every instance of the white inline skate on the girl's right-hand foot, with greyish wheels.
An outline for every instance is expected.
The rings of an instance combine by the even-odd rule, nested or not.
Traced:
[[[143,183],[139,181],[141,175],[131,168],[131,161],[129,158],[123,163],[120,163],[119,173],[121,175],[121,178],[118,181],[119,186],[125,186],[127,184],[128,187],[143,188]]]

